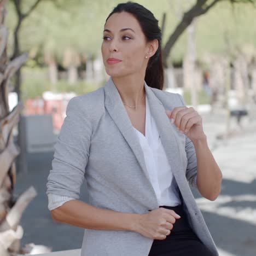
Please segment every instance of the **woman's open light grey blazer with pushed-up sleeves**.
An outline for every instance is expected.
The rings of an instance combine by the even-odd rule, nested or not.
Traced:
[[[189,185],[196,187],[196,155],[190,139],[177,131],[165,109],[183,106],[181,95],[144,82],[150,112],[183,197],[194,232],[218,255]],[[126,213],[159,208],[142,148],[112,77],[88,94],[73,97],[55,144],[46,194],[79,199],[84,178],[90,205]],[[146,256],[153,239],[133,231],[85,229],[81,256]]]

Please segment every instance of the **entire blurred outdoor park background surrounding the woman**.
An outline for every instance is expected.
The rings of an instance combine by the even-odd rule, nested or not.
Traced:
[[[103,26],[122,2],[0,0],[0,255],[82,246],[51,219],[46,179],[68,101],[109,78]],[[256,1],[136,2],[159,20],[164,90],[201,114],[223,172],[216,201],[193,189],[219,253],[256,255]]]

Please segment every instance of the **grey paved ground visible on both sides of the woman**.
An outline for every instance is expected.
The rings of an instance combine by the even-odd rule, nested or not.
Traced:
[[[224,115],[202,114],[202,117],[208,144],[223,172],[223,184],[222,192],[213,202],[202,198],[193,190],[196,201],[221,256],[255,256],[255,132],[247,132],[243,136],[234,137],[226,142],[218,141],[216,135],[225,131]],[[247,127],[249,127],[248,124]],[[15,194],[21,194],[30,185],[33,185],[38,192],[38,196],[22,215],[21,225],[25,234],[21,243],[22,246],[31,242],[49,246],[54,252],[78,249],[82,245],[83,229],[53,222],[47,207],[45,184],[52,159],[53,152],[30,154],[27,156],[28,175],[22,177],[18,174]],[[83,201],[87,201],[85,191],[84,183],[80,195]]]

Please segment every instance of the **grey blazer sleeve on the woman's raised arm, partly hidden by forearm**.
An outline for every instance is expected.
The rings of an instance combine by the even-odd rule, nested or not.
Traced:
[[[177,94],[181,99],[182,106],[185,106],[183,97],[180,94]],[[185,151],[187,153],[188,165],[186,170],[186,178],[191,187],[197,188],[196,177],[197,177],[197,161],[196,161],[196,152],[193,142],[190,138],[185,135]],[[198,189],[198,188],[197,188]]]

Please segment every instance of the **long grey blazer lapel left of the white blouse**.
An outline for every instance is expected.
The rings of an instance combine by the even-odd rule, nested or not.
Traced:
[[[149,187],[152,189],[155,203],[158,205],[157,197],[154,191],[154,188],[152,186],[152,183],[150,182],[147,166],[144,159],[144,154],[141,148],[141,145],[139,144],[139,140],[137,138],[137,135],[135,131],[133,130],[133,126],[131,123],[131,120],[129,118],[129,115],[126,112],[126,109],[124,107],[124,104],[121,100],[120,94],[113,83],[112,77],[109,78],[107,83],[104,85],[104,91],[105,91],[105,107],[108,110],[108,113],[110,117],[113,119],[115,124],[118,126],[119,131],[124,136],[126,142],[129,144],[133,154],[135,154],[135,157],[139,163],[139,165],[142,168],[143,173],[148,179]]]

